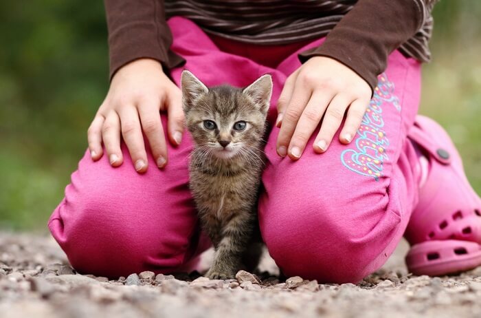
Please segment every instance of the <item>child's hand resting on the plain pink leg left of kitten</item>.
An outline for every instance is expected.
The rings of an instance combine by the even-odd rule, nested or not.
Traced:
[[[142,131],[158,167],[167,163],[167,147],[159,111],[168,112],[170,142],[179,145],[183,132],[181,90],[152,59],[126,64],[113,76],[109,93],[88,130],[93,160],[102,157],[102,141],[112,166],[122,165],[120,134],[124,138],[137,172],[147,170]]]

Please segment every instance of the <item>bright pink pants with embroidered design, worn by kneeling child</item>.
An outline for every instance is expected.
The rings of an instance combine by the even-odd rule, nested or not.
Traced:
[[[269,123],[298,52],[322,43],[256,47],[209,37],[194,23],[173,18],[172,50],[206,85],[244,86],[272,75]],[[172,70],[179,85],[181,68]],[[420,95],[420,65],[399,52],[389,57],[363,125],[350,145],[337,141],[324,154],[311,149],[297,162],[276,154],[278,128],[265,149],[259,218],[262,236],[286,275],[320,282],[357,282],[383,265],[401,239],[417,200],[418,164],[407,129]],[[164,128],[166,116],[161,114]],[[180,271],[209,246],[201,235],[188,190],[186,132],[168,151],[164,170],[149,153],[149,169],[135,172],[125,145],[121,167],[86,152],[65,198],[49,220],[58,244],[80,273],[119,277],[140,271]]]

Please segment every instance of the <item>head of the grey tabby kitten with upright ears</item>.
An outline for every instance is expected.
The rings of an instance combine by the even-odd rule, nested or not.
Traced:
[[[272,94],[270,75],[238,88],[206,87],[188,71],[182,72],[182,104],[187,128],[197,147],[229,159],[258,147]]]

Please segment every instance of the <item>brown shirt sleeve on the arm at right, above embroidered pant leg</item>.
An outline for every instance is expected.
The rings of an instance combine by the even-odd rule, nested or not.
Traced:
[[[371,87],[388,63],[389,54],[422,27],[429,0],[359,0],[329,32],[319,47],[299,54],[302,63],[328,56],[350,67]]]

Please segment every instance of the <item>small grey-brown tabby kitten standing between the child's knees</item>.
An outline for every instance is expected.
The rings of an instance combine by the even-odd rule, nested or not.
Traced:
[[[206,276],[231,279],[247,253],[255,250],[254,262],[260,256],[260,245],[253,236],[258,232],[258,189],[265,163],[262,138],[272,94],[271,76],[261,76],[244,89],[229,85],[208,88],[183,71],[181,87],[186,125],[194,139],[190,190],[202,229],[215,249]]]

